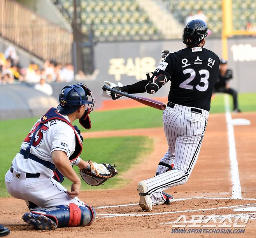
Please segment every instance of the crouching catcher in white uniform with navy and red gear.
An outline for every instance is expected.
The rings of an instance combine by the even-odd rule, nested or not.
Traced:
[[[88,100],[90,97],[90,100]],[[72,122],[91,128],[89,113],[94,99],[86,85],[65,86],[59,96],[57,109],[51,108],[32,127],[5,174],[5,184],[12,197],[24,199],[30,212],[22,219],[41,230],[67,226],[89,226],[95,219],[93,207],[77,196],[81,179],[97,186],[117,174],[114,166],[84,161],[82,136]],[[64,177],[72,181],[71,189],[61,185]]]

